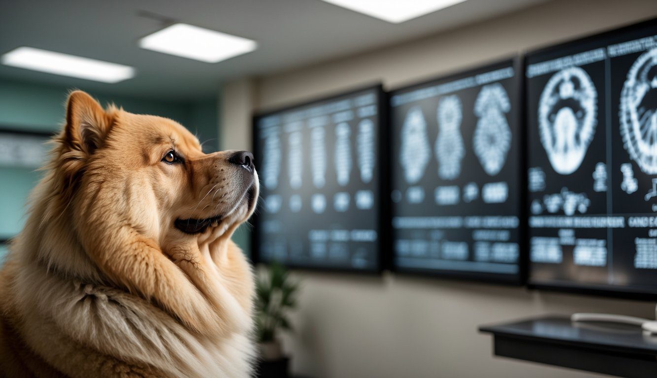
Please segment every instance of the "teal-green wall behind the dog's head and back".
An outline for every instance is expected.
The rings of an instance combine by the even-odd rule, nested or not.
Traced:
[[[69,90],[0,79],[0,130],[58,131],[64,121],[64,103]],[[114,102],[128,112],[154,114],[178,121],[198,136],[205,152],[219,148],[218,98],[172,102],[87,92],[103,105]],[[0,167],[0,240],[20,232],[25,221],[28,194],[40,175],[32,169]],[[0,246],[0,259],[3,251],[5,249]]]

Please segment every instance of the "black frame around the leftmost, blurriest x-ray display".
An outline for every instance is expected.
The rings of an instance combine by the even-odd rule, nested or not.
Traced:
[[[390,224],[390,204],[389,204],[389,179],[388,179],[388,159],[389,156],[387,154],[383,154],[382,152],[386,151],[386,148],[388,148],[388,135],[390,134],[388,131],[388,94],[383,90],[383,86],[381,83],[373,83],[369,85],[362,85],[359,87],[355,87],[354,89],[349,89],[348,91],[343,91],[340,93],[332,93],[330,95],[326,96],[317,96],[315,98],[312,98],[311,100],[306,100],[304,102],[298,102],[295,104],[291,104],[288,106],[283,106],[281,108],[275,108],[274,110],[268,110],[266,112],[255,112],[252,115],[252,148],[254,155],[256,156],[256,161],[258,161],[258,156],[260,156],[261,151],[258,148],[258,120],[271,116],[274,114],[280,114],[283,112],[288,112],[290,110],[294,110],[296,108],[302,108],[305,106],[309,106],[311,104],[315,104],[318,102],[326,102],[330,101],[336,98],[342,98],[345,96],[351,96],[351,95],[356,95],[357,93],[362,93],[365,91],[375,91],[376,96],[377,96],[377,107],[378,107],[378,152],[379,156],[376,157],[377,163],[378,163],[378,175],[379,175],[379,185],[377,187],[377,190],[380,191],[380,196],[379,200],[380,203],[378,204],[378,209],[380,209],[380,217],[378,219],[378,251],[377,251],[377,259],[378,259],[378,264],[376,264],[376,267],[371,268],[371,269],[360,269],[360,268],[343,268],[343,267],[335,267],[335,266],[316,266],[316,265],[305,265],[305,264],[290,264],[290,263],[284,263],[284,265],[287,268],[293,269],[293,270],[306,270],[309,272],[333,272],[333,273],[346,273],[346,274],[360,274],[360,275],[369,275],[369,276],[379,276],[384,270],[387,270],[390,268],[390,263],[389,263],[389,256],[390,253],[388,251],[390,247],[389,243],[389,238],[390,238],[390,232],[389,229],[386,228],[388,224]],[[258,167],[256,167],[256,170]],[[376,206],[376,205],[375,205]],[[256,211],[254,215],[252,215],[252,224],[254,225],[252,228],[251,232],[251,261],[252,264],[257,265],[257,264],[268,264],[270,263],[269,261],[264,261],[264,259],[261,258],[260,255],[260,250],[258,246],[260,245],[260,230],[258,225],[260,224],[260,212]]]

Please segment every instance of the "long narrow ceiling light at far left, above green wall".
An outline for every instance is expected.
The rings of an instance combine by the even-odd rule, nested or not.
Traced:
[[[102,81],[103,83],[118,83],[135,76],[134,68],[122,64],[32,47],[18,47],[18,49],[4,54],[2,64],[48,74]]]

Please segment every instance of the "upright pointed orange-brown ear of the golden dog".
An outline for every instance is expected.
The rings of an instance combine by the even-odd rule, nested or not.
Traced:
[[[111,125],[112,117],[86,92],[68,95],[64,139],[71,150],[90,156],[102,145]]]

